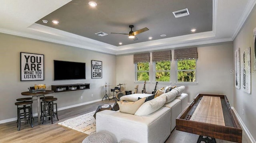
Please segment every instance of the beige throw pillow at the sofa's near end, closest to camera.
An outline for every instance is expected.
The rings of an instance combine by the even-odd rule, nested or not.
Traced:
[[[145,102],[145,100],[146,100],[146,97],[141,98],[136,102],[118,101],[117,104],[119,106],[120,112],[134,114],[138,110],[138,108],[140,108],[140,106]]]

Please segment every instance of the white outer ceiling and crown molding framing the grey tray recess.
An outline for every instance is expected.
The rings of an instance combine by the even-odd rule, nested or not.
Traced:
[[[114,46],[35,24],[71,0],[0,0],[0,32],[115,55],[232,41],[256,0],[213,0],[212,31]],[[113,31],[118,32],[118,31]]]

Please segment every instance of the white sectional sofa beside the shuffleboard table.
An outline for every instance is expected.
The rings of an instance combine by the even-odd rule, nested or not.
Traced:
[[[96,132],[109,133],[115,143],[121,141],[129,143],[164,143],[176,126],[176,118],[187,106],[188,94],[182,93],[185,88],[183,87],[177,88],[176,91],[174,88],[170,93],[162,94],[157,97],[158,99],[150,100],[152,102],[145,102],[144,104],[154,108],[159,106],[155,105],[154,102],[160,98],[164,98],[166,101],[158,110],[145,116],[112,110],[98,112],[96,114]]]

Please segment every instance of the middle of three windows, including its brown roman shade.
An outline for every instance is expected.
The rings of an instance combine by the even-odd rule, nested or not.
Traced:
[[[152,53],[154,82],[170,82],[172,51]]]

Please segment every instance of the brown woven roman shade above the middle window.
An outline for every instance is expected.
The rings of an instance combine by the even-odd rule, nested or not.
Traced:
[[[172,51],[158,51],[152,53],[152,61],[171,61]]]

